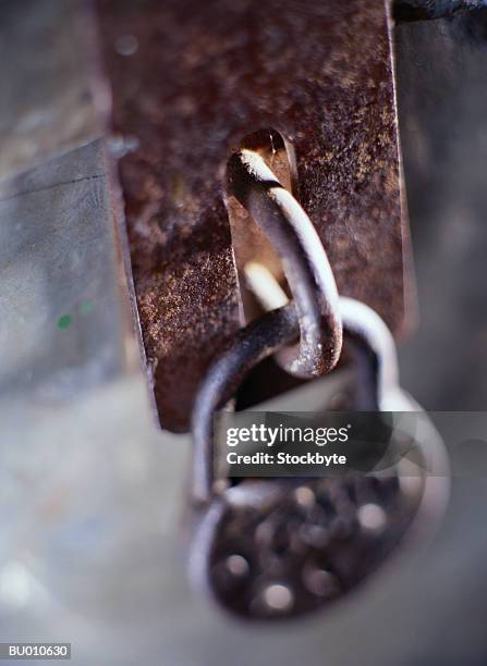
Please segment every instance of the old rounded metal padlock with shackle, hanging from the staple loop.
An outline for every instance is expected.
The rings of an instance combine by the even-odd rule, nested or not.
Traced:
[[[430,532],[446,505],[445,447],[425,412],[399,387],[389,330],[356,300],[341,298],[340,309],[356,370],[348,408],[388,410],[393,423],[400,422],[392,437],[407,445],[392,462],[344,477],[247,478],[233,485],[214,479],[211,406],[234,392],[244,373],[238,367],[246,372],[251,358],[296,334],[292,304],[248,326],[199,393],[194,424],[199,518],[190,569],[199,589],[241,618],[291,618],[331,605],[379,569],[407,535],[417,539],[425,527]],[[401,442],[395,444],[401,449]],[[202,451],[205,446],[209,451]]]

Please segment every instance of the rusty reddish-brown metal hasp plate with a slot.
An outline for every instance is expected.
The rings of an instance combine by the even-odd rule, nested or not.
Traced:
[[[243,137],[292,145],[299,197],[341,294],[404,318],[403,226],[386,7],[368,0],[98,0],[149,379],[187,428],[241,325],[223,201]],[[133,140],[133,139],[136,140]]]

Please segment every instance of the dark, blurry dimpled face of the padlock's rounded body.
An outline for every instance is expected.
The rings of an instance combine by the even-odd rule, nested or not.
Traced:
[[[269,485],[227,491],[207,576],[219,604],[266,620],[316,610],[361,583],[401,541],[423,493],[422,483],[409,492],[395,472],[280,479],[258,505],[254,496],[245,502],[256,484]]]

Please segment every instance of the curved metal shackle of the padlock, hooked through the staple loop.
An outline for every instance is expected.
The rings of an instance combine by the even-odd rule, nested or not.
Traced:
[[[352,298],[340,298],[345,336],[363,351],[374,356],[374,378],[365,377],[368,402],[362,409],[378,411],[382,394],[397,385],[394,344],[389,329],[368,306]],[[271,310],[242,329],[231,346],[210,367],[196,396],[193,411],[194,496],[208,502],[214,489],[214,415],[235,394],[247,372],[260,360],[292,341],[299,332],[299,316],[293,303]],[[367,363],[368,365],[368,363]],[[360,370],[361,368],[358,368]],[[373,384],[370,382],[374,382]],[[373,397],[369,398],[369,395]]]

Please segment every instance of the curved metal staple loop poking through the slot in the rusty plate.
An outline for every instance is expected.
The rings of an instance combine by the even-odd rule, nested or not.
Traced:
[[[248,211],[280,256],[299,312],[299,348],[282,349],[278,360],[297,377],[325,374],[340,358],[342,325],[337,285],[319,236],[257,152],[233,155],[227,173],[229,194]]]

